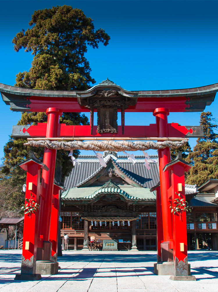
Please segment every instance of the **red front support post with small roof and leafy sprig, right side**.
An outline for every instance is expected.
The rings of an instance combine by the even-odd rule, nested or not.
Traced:
[[[171,195],[172,207],[176,207],[178,202],[175,199],[185,201],[185,171],[189,171],[191,164],[182,160],[182,152],[179,152],[174,161],[164,167],[164,171],[171,172]],[[182,207],[184,208],[184,207]],[[172,213],[173,214],[173,213]],[[173,280],[186,280],[189,275],[189,265],[187,257],[187,230],[186,211],[173,214]],[[181,276],[186,276],[182,278]],[[178,277],[178,278],[176,278]],[[194,276],[192,277],[194,280]]]

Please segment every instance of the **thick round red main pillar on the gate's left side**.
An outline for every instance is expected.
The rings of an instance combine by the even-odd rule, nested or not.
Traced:
[[[57,137],[59,119],[62,113],[60,109],[50,107],[46,110],[46,114],[48,116],[46,138]],[[56,152],[57,150],[47,149],[45,147],[43,162],[48,166],[49,171],[42,171],[42,188],[45,190],[45,198],[42,200],[42,206],[40,208],[38,236],[43,240],[41,241],[41,246],[39,247],[45,250],[45,252],[41,253],[43,255],[41,260],[51,260],[51,242],[49,242],[49,230],[51,223]]]

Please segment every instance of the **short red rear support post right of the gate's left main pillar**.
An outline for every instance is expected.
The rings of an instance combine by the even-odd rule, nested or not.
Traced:
[[[64,188],[61,185],[54,183],[53,195],[52,195],[52,212],[51,212],[51,224],[49,232],[49,241],[52,243],[52,262],[57,262],[58,254],[58,227],[59,227],[59,213],[60,213],[60,199],[61,190]]]

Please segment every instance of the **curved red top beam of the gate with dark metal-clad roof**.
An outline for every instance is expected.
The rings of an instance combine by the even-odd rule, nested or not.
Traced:
[[[153,112],[157,107],[168,108],[170,112],[201,112],[214,101],[217,91],[218,83],[157,91],[127,91],[109,79],[86,91],[37,90],[0,83],[3,101],[18,112],[45,112],[49,107],[63,112],[89,112],[101,106],[98,101],[110,106],[114,100],[119,100],[118,111],[125,112]]]

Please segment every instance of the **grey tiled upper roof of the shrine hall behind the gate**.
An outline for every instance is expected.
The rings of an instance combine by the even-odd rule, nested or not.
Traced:
[[[111,157],[106,157],[106,163]],[[159,166],[157,163],[158,156],[150,155],[150,170],[144,166],[143,155],[136,155],[136,163],[133,165],[128,161],[126,155],[118,155],[118,159],[113,159],[118,168],[125,173],[133,181],[142,187],[151,188],[159,182]],[[70,175],[65,178],[64,187],[66,190],[78,186],[88,178],[95,176],[104,166],[100,166],[99,160],[95,155],[79,155],[77,161],[81,163],[75,164]]]

